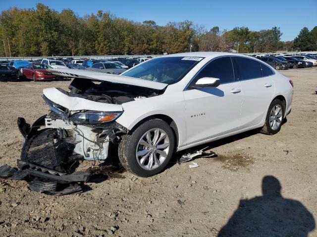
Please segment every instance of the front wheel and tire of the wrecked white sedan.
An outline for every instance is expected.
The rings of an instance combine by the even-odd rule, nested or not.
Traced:
[[[161,136],[162,139],[160,139]],[[150,177],[161,172],[174,153],[174,133],[171,127],[161,119],[148,120],[131,134],[123,135],[121,138],[118,146],[119,160],[127,171],[140,177]],[[154,141],[154,144],[151,141]],[[155,141],[159,141],[157,146]],[[166,147],[167,144],[169,144],[168,147]]]

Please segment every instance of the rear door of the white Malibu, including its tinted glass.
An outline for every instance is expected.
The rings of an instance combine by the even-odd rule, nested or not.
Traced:
[[[262,122],[274,95],[274,72],[254,59],[237,56],[232,61],[242,90],[240,129],[256,126]]]

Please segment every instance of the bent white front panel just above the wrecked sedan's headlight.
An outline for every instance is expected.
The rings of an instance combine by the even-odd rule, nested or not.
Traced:
[[[56,88],[45,88],[43,94],[54,103],[67,108],[70,111],[94,110],[104,112],[120,112],[123,111],[121,105],[106,104],[86,100],[84,98],[69,96]]]

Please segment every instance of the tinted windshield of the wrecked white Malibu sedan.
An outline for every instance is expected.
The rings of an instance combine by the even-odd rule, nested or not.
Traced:
[[[173,84],[181,80],[203,57],[161,57],[146,61],[122,76]]]

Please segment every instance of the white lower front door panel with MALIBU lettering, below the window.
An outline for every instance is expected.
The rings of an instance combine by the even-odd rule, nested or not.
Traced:
[[[242,94],[232,89],[241,90],[240,82],[183,92],[187,145],[239,129]]]

